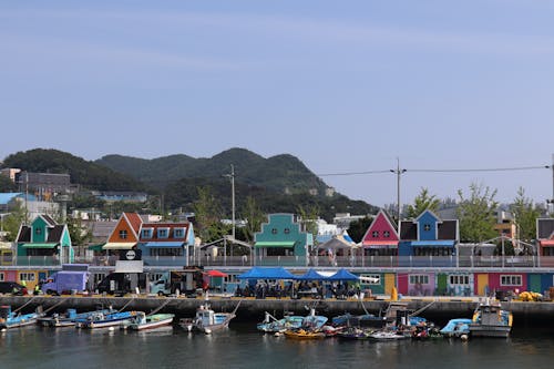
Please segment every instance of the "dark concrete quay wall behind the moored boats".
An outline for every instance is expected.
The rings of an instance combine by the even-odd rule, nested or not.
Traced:
[[[435,322],[445,322],[451,318],[471,318],[473,310],[479,304],[475,298],[450,299],[443,297],[429,297],[424,299],[402,299],[410,310],[421,310],[418,315]],[[78,311],[86,311],[99,306],[112,306],[115,309],[174,312],[179,317],[191,317],[196,308],[205,304],[203,298],[185,297],[147,297],[147,296],[124,296],[105,297],[94,295],[90,297],[81,296],[1,296],[0,305],[11,305],[12,309],[22,308],[22,311],[32,311],[38,306],[44,310],[63,311],[68,308],[75,308]],[[307,308],[314,307],[317,312],[328,317],[337,316],[349,311],[351,314],[363,314],[365,310],[378,315],[384,311],[390,300],[366,299],[366,300],[336,300],[336,299],[252,299],[252,298],[220,298],[213,297],[209,300],[212,308],[216,311],[233,311],[237,309],[237,319],[248,321],[260,321],[264,312],[268,311],[276,317],[283,316],[284,311],[291,311],[298,315],[306,315]],[[514,327],[520,325],[551,325],[554,329],[554,303],[524,303],[503,301],[502,307],[511,310],[514,315]]]

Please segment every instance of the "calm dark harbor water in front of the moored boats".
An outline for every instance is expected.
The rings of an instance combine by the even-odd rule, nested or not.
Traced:
[[[178,327],[151,332],[27,327],[0,334],[0,368],[552,368],[554,335],[509,339],[296,341],[232,322],[211,336]]]

